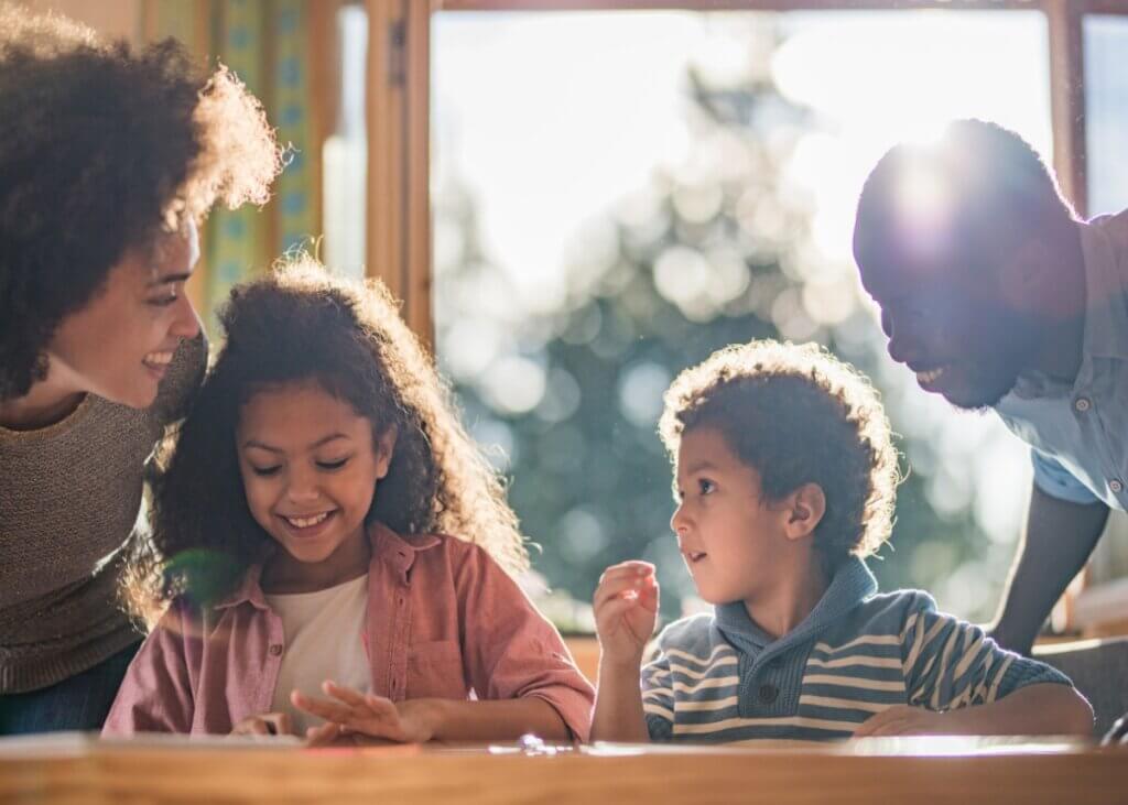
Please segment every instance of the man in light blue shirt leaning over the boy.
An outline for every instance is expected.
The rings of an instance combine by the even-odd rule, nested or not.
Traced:
[[[993,632],[1029,653],[1109,508],[1128,506],[1128,211],[1077,220],[1022,138],[958,121],[878,162],[854,255],[893,360],[1031,445],[1025,539]]]

